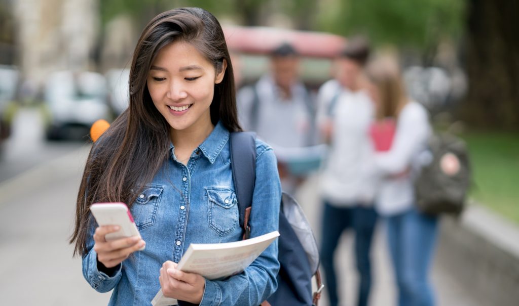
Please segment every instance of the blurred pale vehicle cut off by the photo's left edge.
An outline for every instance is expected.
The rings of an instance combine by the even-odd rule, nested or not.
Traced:
[[[11,119],[20,72],[14,66],[0,65],[0,143],[11,134]]]

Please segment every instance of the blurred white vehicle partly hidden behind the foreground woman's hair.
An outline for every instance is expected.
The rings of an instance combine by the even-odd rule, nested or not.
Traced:
[[[130,69],[110,69],[105,74],[108,84],[108,103],[115,116],[128,108],[130,100]]]

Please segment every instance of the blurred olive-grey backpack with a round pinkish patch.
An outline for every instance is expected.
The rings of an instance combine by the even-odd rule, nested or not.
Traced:
[[[459,215],[471,184],[465,142],[450,134],[435,134],[419,159],[422,167],[415,181],[418,209],[432,215]]]

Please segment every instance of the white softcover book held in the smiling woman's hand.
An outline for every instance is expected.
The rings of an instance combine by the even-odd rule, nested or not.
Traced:
[[[279,236],[277,230],[268,234],[227,243],[192,243],[180,259],[181,271],[197,273],[208,280],[241,273]],[[176,299],[165,297],[162,290],[152,300],[153,306],[176,305]]]

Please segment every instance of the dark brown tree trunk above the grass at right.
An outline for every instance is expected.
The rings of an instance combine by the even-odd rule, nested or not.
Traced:
[[[469,0],[466,42],[464,118],[477,127],[519,129],[519,2]]]

